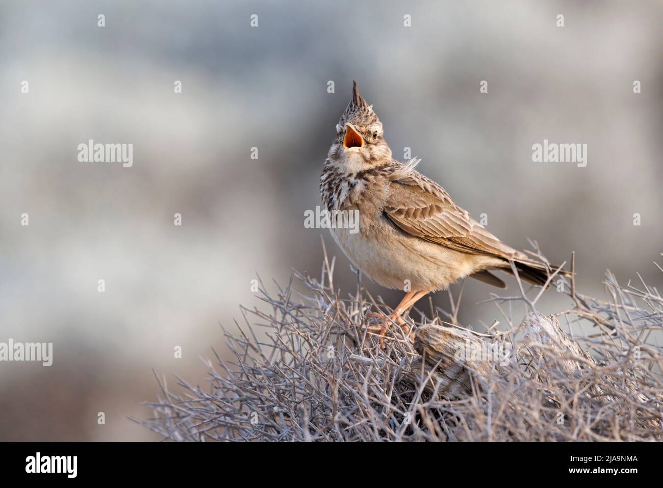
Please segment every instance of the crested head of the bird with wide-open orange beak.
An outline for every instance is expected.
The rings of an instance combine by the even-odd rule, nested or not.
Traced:
[[[357,82],[353,82],[352,99],[336,125],[336,141],[329,156],[348,172],[362,171],[391,159],[382,123],[373,106],[359,95]]]

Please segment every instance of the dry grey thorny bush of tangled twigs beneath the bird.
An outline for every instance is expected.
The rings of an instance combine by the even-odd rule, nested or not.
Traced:
[[[389,328],[380,347],[363,326],[369,312],[391,310],[359,276],[355,293],[340,298],[333,267],[325,253],[320,280],[294,273],[303,293],[293,278],[276,296],[262,286],[271,311],[241,308],[239,332],[224,330],[234,360],[215,353],[217,368],[206,361],[210,386],[178,377],[178,395],[160,379],[162,395],[146,403],[154,417],[134,420],[175,441],[660,440],[663,298],[641,279],[619,286],[608,272],[609,299],[598,300],[577,293],[572,278],[564,289],[574,307],[556,318],[582,334],[565,345],[524,343],[528,321],[512,314],[516,302],[534,312],[543,288],[518,280],[517,295],[493,294],[501,324],[475,336],[514,352],[507,364],[484,363],[488,375],[473,361],[457,361],[471,381],[465,395],[453,396],[435,384],[446,372],[422,368],[399,327]],[[549,282],[558,279],[551,273]],[[457,323],[461,294],[454,300],[450,293],[450,312],[429,300],[429,318],[412,310],[407,320],[469,334]]]

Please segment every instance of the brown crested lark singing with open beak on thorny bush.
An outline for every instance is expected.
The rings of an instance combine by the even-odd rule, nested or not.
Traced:
[[[513,274],[510,261],[532,284],[544,285],[550,276],[547,263],[502,243],[453,203],[440,185],[415,169],[418,162],[392,158],[383,125],[354,82],[320,177],[320,196],[331,213],[359,212],[358,232],[331,228],[353,265],[381,286],[409,290],[383,316],[381,335],[390,321],[404,325],[402,314],[417,300],[466,276],[506,288],[489,270]]]

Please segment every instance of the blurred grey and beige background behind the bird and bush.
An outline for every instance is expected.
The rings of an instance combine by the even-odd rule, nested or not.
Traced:
[[[503,241],[575,251],[587,294],[605,269],[660,286],[662,18],[660,1],[1,3],[0,341],[52,341],[54,363],[0,363],[0,440],[155,439],[127,420],[151,414],[152,369],[202,385],[219,323],[259,305],[251,279],[318,275],[321,234],[355,289],[304,228],[353,79],[394,156],[411,147]],[[89,139],[133,143],[133,167],[78,162]],[[532,162],[543,139],[586,143],[587,167]],[[474,305],[489,291],[465,284],[461,322],[499,318]]]

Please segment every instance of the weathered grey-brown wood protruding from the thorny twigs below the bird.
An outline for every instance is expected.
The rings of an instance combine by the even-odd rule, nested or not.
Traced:
[[[416,330],[414,348],[420,358],[413,363],[408,381],[426,381],[425,390],[443,398],[463,398],[475,389],[507,388],[510,368],[527,367],[545,390],[552,379],[587,383],[585,395],[609,401],[603,391],[583,377],[595,360],[573,342],[554,316],[532,312],[522,322],[522,341],[511,344],[497,336],[463,328],[424,325]],[[526,365],[524,365],[526,360]],[[554,402],[554,392],[550,391]]]

